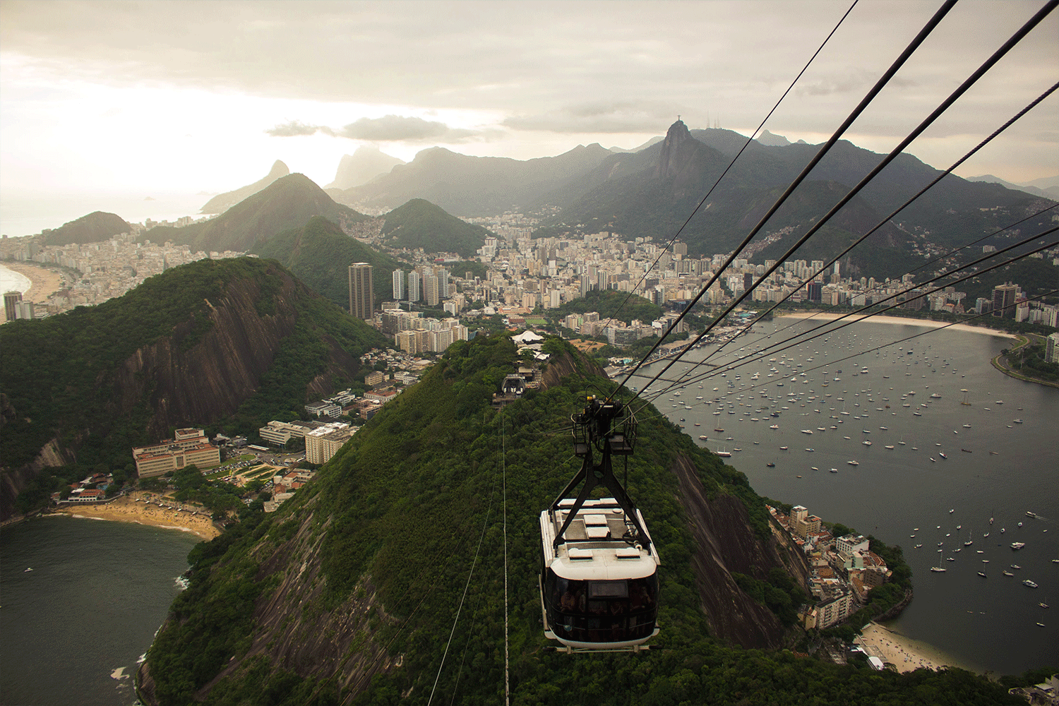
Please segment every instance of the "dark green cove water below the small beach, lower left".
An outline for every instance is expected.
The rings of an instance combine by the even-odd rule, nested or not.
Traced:
[[[66,515],[4,528],[2,703],[133,704],[138,660],[182,590],[197,542],[172,529]]]

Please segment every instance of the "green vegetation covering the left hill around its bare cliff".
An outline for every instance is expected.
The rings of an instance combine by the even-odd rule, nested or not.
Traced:
[[[254,258],[199,260],[148,278],[123,296],[94,307],[43,320],[20,320],[0,327],[0,388],[16,415],[0,435],[0,458],[13,468],[31,461],[58,438],[77,450],[83,464],[124,468],[129,449],[148,437],[152,416],[151,387],[127,415],[114,413],[114,385],[123,365],[137,350],[161,339],[189,350],[213,323],[212,303],[221,303],[230,286],[256,287],[261,313],[275,311],[283,287],[275,263]],[[227,420],[212,422],[253,435],[269,419],[295,419],[307,400],[309,383],[334,367],[333,350],[346,355],[349,378],[336,376],[336,388],[352,384],[357,357],[384,343],[363,322],[349,319],[335,305],[304,290],[287,303],[297,310],[293,332],[284,340],[252,397]]]

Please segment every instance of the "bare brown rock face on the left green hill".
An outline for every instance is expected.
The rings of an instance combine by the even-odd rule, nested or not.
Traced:
[[[269,277],[232,279],[220,296],[207,300],[204,315],[210,325],[194,343],[189,337],[199,336],[195,331],[203,327],[190,316],[169,336],[140,347],[114,368],[100,372],[94,387],[108,400],[106,414],[84,429],[61,429],[32,463],[4,468],[0,520],[11,517],[15,499],[37,472],[75,461],[79,445],[93,435],[107,434],[114,419],[146,411],[144,438],[162,439],[174,428],[207,426],[229,417],[253,396],[294,332],[302,315],[295,304],[318,296],[275,264],[264,267]],[[263,282],[268,284],[267,294],[262,291]],[[336,378],[352,379],[360,368],[359,360],[336,340],[322,331],[317,336],[326,348],[325,364],[308,381],[302,402],[309,396],[331,394]],[[2,406],[0,419],[17,414],[6,397]]]

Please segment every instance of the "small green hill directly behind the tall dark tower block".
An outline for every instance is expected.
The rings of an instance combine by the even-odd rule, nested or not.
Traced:
[[[462,221],[461,221],[462,222]],[[313,216],[303,227],[280,233],[254,249],[261,257],[272,257],[315,292],[343,309],[348,308],[348,267],[353,263],[373,266],[375,301],[393,298],[392,274],[401,264],[351,238],[323,216]],[[406,269],[412,266],[405,265]]]

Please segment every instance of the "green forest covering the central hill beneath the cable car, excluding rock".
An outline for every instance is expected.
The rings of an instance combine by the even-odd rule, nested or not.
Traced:
[[[570,351],[557,339],[546,347],[557,355]],[[274,566],[269,560],[273,553],[286,556],[293,548],[289,542],[298,541],[299,526],[299,535],[307,528],[323,537],[319,551],[325,584],[313,615],[347,605],[362,595],[358,586],[366,578],[387,614],[373,618],[366,639],[391,657],[402,657],[400,668],[377,674],[353,703],[427,703],[442,659],[438,648],[452,630],[461,601],[463,616],[437,693],[461,703],[496,700],[504,668],[502,485],[515,704],[566,704],[571,694],[577,694],[578,703],[623,706],[1017,703],[998,685],[962,670],[880,673],[710,639],[690,569],[695,547],[676,499],[676,479],[665,469],[678,456],[689,459],[710,496],[732,493],[742,500],[762,539],[770,536],[767,513],[742,473],[697,449],[650,409],[642,415],[636,452],[629,459],[628,487],[663,559],[663,631],[656,639],[661,649],[576,658],[544,652],[535,581],[538,513],[577,465],[568,435],[554,431],[566,427],[587,391],[604,392],[611,383],[570,378],[495,411],[488,399],[513,369],[514,359],[515,346],[505,334],[453,345],[418,385],[377,414],[274,517],[200,545],[192,556],[193,587],[178,599],[148,655],[163,705],[189,703],[230,657],[238,660],[245,654],[257,634],[247,618],[252,610],[247,601],[270,595],[270,582],[284,574],[283,565],[263,567]],[[740,579],[751,594],[760,591],[766,604],[771,601],[784,615],[792,604],[796,609],[798,595],[789,578],[782,571],[761,571]],[[248,582],[251,576],[256,582]],[[455,650],[462,658],[453,656]],[[262,666],[262,659],[267,657],[236,662],[231,676],[221,678],[204,703],[294,703],[290,700],[297,694],[304,703],[316,699],[323,704],[346,696],[333,680],[301,680],[271,662]]]

